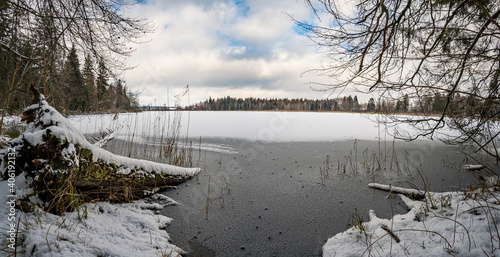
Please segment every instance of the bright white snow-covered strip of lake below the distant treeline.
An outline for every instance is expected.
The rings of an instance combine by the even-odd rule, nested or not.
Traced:
[[[113,129],[118,136],[132,134],[143,139],[166,134],[168,124],[180,121],[180,136],[191,138],[233,138],[265,142],[339,140],[392,140],[396,127],[378,126],[383,116],[359,113],[193,111],[140,112],[71,117],[85,134]],[[408,129],[408,128],[406,128]]]

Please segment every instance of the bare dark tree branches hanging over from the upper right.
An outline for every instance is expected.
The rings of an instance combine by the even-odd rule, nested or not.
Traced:
[[[500,159],[499,0],[305,2],[322,20],[296,23],[331,59],[315,70],[331,78],[326,90],[378,92],[385,103],[407,95],[413,112],[432,116],[391,116],[419,129],[406,139],[446,127],[458,136],[441,139]]]

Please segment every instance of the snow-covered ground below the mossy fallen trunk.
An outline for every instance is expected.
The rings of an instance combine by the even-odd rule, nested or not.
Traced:
[[[178,256],[182,250],[169,242],[165,227],[172,219],[158,214],[164,206],[176,204],[163,195],[153,195],[162,204],[137,200],[125,204],[85,203],[78,210],[57,216],[36,208],[19,219],[17,248],[9,247],[12,223],[6,204],[8,181],[0,181],[0,228],[6,256]],[[156,202],[156,201],[155,201]]]

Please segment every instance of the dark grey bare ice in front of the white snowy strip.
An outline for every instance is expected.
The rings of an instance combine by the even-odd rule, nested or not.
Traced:
[[[371,209],[381,218],[408,211],[399,197],[387,199],[368,183],[425,189],[425,177],[431,190],[448,191],[476,175],[461,170],[458,148],[432,141],[395,142],[395,151],[392,143],[382,145],[386,155],[379,155],[377,141],[364,140],[208,138],[207,145],[193,152],[202,172],[164,192],[180,204],[161,212],[173,218],[172,242],[204,256],[320,256],[328,238],[352,225],[355,212],[368,220]]]

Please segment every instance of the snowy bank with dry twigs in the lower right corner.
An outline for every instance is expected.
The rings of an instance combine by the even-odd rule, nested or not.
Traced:
[[[414,189],[371,184],[393,193],[421,195]],[[499,256],[500,192],[426,192],[422,200],[400,195],[410,211],[391,220],[373,210],[370,221],[330,238],[323,256]]]

